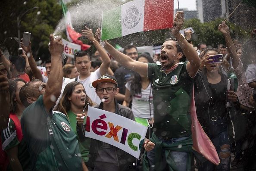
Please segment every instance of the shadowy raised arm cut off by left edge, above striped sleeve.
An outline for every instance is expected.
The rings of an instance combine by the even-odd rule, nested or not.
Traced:
[[[7,127],[10,114],[8,78],[0,72],[0,131]]]

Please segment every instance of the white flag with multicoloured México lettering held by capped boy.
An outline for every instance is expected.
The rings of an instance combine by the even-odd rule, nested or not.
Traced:
[[[88,107],[85,137],[109,143],[137,159],[140,142],[144,142],[147,127],[131,119],[105,110]]]

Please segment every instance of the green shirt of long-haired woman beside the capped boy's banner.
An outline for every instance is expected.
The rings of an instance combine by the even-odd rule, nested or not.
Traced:
[[[86,138],[83,142],[81,142],[78,138],[77,132],[76,132],[76,115],[72,111],[68,112],[69,116],[69,121],[72,130],[76,134],[76,138],[78,140],[78,146],[82,155],[82,159],[84,162],[88,162],[89,160],[89,152],[90,152],[90,143],[91,143],[91,138]]]

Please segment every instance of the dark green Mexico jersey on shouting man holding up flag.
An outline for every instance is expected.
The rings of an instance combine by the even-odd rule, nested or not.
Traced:
[[[186,69],[187,62],[165,74],[161,65],[148,63],[148,77],[153,83],[154,132],[162,137],[191,135],[190,103],[193,78]]]

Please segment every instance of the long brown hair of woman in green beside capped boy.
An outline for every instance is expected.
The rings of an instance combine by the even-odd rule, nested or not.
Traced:
[[[64,113],[67,117],[68,117],[67,113],[71,109],[71,103],[70,103],[70,100],[68,99],[68,97],[72,95],[73,91],[75,90],[75,86],[77,86],[79,84],[81,84],[81,83],[79,83],[77,81],[73,81],[73,82],[70,82],[69,84],[67,84],[63,91],[62,97],[60,98],[59,103],[56,106],[56,110]],[[83,86],[83,84],[81,84],[81,85]],[[89,103],[90,106],[94,105],[94,103],[92,102],[90,97],[88,97],[87,94],[85,93],[85,104],[87,104],[87,103]]]

